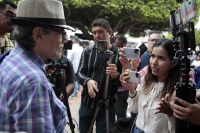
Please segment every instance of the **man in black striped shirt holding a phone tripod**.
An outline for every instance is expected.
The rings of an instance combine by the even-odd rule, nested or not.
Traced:
[[[94,20],[91,24],[95,45],[86,47],[81,56],[78,80],[83,85],[81,106],[79,109],[80,133],[87,133],[92,124],[98,102],[103,98],[107,74],[110,75],[109,99],[109,125],[114,124],[114,102],[118,89],[119,69],[121,64],[118,57],[118,48],[110,43],[112,29],[105,19]],[[113,51],[112,63],[98,57],[98,41],[106,40],[107,50]],[[105,51],[106,52],[106,51]],[[99,111],[96,118],[96,133],[106,132],[106,113],[104,108]]]

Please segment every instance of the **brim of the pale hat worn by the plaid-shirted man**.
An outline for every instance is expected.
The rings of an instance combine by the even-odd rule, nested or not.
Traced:
[[[76,31],[73,27],[71,27],[69,25],[57,25],[57,24],[43,23],[43,22],[38,22],[38,21],[33,21],[33,20],[28,20],[28,19],[23,19],[23,18],[13,18],[10,20],[13,24],[20,25],[20,26],[60,27],[60,28]]]

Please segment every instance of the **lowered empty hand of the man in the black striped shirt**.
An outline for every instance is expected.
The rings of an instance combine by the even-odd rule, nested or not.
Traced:
[[[87,89],[88,89],[88,94],[90,95],[91,98],[94,98],[96,96],[96,92],[98,92],[98,84],[94,80],[89,80],[87,82]]]

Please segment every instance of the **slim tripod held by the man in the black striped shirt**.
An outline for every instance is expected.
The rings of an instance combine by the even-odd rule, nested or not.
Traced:
[[[111,63],[114,53],[110,50],[107,50],[106,55],[109,56],[109,63]],[[103,104],[105,105],[105,112],[106,112],[106,131],[107,131],[107,133],[109,133],[109,115],[108,115],[109,114],[109,100],[107,98],[109,80],[110,80],[110,75],[107,74],[106,75],[106,84],[105,84],[105,89],[104,89],[104,96],[103,96],[103,99],[100,99],[100,101],[97,105],[97,108],[96,108],[96,111],[95,111],[95,114],[94,114],[94,118],[92,120],[92,123],[91,123],[91,126],[90,126],[88,133],[92,132],[94,122],[95,122],[97,115],[99,113],[99,110],[100,110],[100,108],[102,107]]]

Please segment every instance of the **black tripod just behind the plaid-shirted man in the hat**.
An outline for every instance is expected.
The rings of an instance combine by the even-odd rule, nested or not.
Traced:
[[[50,82],[53,83],[54,80],[56,80],[55,93],[56,93],[57,97],[59,97],[59,94],[61,92],[63,93],[64,105],[67,108],[69,126],[70,126],[72,133],[75,133],[74,132],[75,125],[72,122],[72,116],[71,116],[71,112],[70,112],[70,108],[69,108],[68,94],[66,93],[66,90],[65,90],[64,72],[62,71],[62,69],[65,69],[67,66],[64,65],[64,63],[62,63],[62,60],[60,60],[60,63],[55,63],[55,67],[56,67],[56,70],[52,73]],[[57,89],[60,89],[60,90],[57,90]],[[58,91],[60,91],[60,93]]]

